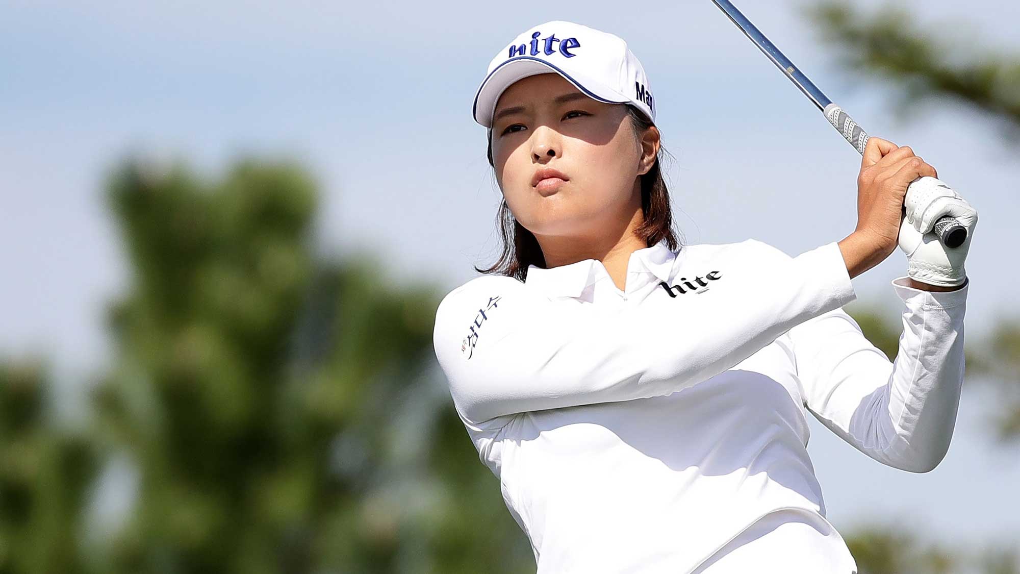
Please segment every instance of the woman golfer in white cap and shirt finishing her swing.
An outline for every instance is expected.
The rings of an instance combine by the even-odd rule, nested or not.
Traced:
[[[577,23],[540,25],[492,60],[473,114],[505,248],[437,310],[453,402],[540,574],[856,572],[806,412],[882,464],[938,465],[977,213],[936,185],[905,197],[934,168],[871,138],[842,240],[796,257],[754,239],[680,246],[658,101],[622,39]],[[945,214],[970,232],[956,249],[928,234]],[[840,307],[898,245],[890,363]]]

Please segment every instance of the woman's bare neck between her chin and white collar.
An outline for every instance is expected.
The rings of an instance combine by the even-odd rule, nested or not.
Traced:
[[[584,259],[598,259],[609,272],[609,277],[621,291],[626,290],[627,264],[630,254],[638,249],[648,247],[645,241],[635,235],[635,230],[645,223],[641,205],[629,221],[618,226],[618,229],[602,229],[597,233],[582,236],[536,236],[542,253],[546,258],[546,268],[575,264]]]

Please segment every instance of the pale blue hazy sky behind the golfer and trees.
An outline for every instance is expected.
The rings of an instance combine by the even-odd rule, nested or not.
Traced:
[[[869,6],[877,2],[864,2]],[[1012,3],[904,3],[957,45],[1020,51]],[[1020,317],[1008,246],[1020,212],[1016,148],[954,102],[911,121],[848,76],[796,10],[745,13],[870,134],[911,145],[980,212],[967,336]],[[642,13],[622,10],[640,6]],[[923,10],[920,7],[923,6]],[[470,115],[496,51],[568,19],[627,40],[648,71],[677,225],[687,243],[753,237],[797,254],[856,225],[860,156],[708,0],[703,2],[22,2],[0,19],[0,353],[54,360],[68,388],[109,356],[103,304],[128,284],[101,199],[123,153],[215,174],[239,153],[287,154],[319,178],[323,252],[363,251],[395,281],[452,289],[497,254],[500,194]],[[897,251],[854,280],[898,318]],[[953,446],[926,475],[882,467],[812,423],[810,450],[842,530],[898,516],[946,540],[1015,539],[1017,449],[980,430],[993,397],[964,389]]]

